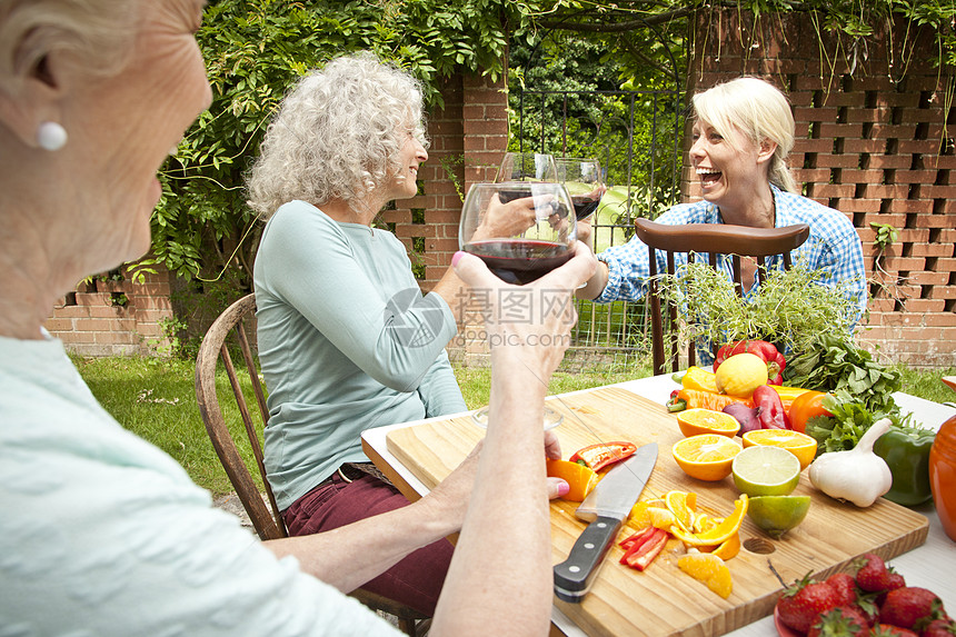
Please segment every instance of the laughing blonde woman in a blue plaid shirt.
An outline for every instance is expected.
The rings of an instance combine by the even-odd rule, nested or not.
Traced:
[[[759,78],[738,78],[694,96],[694,113],[689,156],[704,199],[675,206],[655,221],[753,228],[808,223],[810,236],[797,248],[795,262],[825,270],[830,285],[845,283],[862,313],[866,309],[866,270],[859,236],[843,212],[798,195],[787,167],[794,147],[794,116],[784,94]],[[678,266],[686,262],[686,255],[676,258]],[[658,252],[657,259],[658,271],[666,271],[664,253]],[[578,290],[579,298],[611,302],[644,297],[649,265],[647,246],[640,239],[608,248],[598,260],[595,276]],[[781,262],[771,257],[767,267],[780,268]],[[758,285],[756,265],[748,259],[743,263],[744,289],[749,291]],[[709,361],[709,352],[701,355]]]

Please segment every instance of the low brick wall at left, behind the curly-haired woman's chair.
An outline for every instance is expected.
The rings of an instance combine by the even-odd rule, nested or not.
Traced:
[[[104,273],[61,298],[44,327],[80,356],[168,351],[160,321],[173,318],[169,295],[170,275],[163,268],[146,275],[142,283],[133,283],[125,270]]]

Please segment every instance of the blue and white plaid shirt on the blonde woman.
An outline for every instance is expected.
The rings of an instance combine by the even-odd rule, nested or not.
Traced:
[[[843,212],[827,208],[811,199],[785,192],[770,185],[776,203],[776,225],[778,228],[795,223],[808,223],[810,236],[803,246],[794,250],[794,262],[801,262],[811,270],[826,270],[828,281],[836,283],[846,281],[848,293],[856,297],[859,311],[854,322],[859,320],[866,309],[866,268],[863,263],[863,246],[856,228]],[[708,201],[680,203],[655,219],[659,223],[678,226],[684,223],[723,223],[720,209]],[[667,271],[665,252],[658,250],[657,271]],[[687,255],[677,253],[675,266],[679,268],[687,263]],[[647,292],[647,278],[650,276],[647,246],[637,237],[623,246],[608,248],[598,259],[607,263],[608,280],[601,295],[595,302],[608,303],[617,300],[636,301]],[[784,260],[779,256],[766,259],[767,269],[783,269]],[[730,258],[724,257],[721,269],[730,278]],[[747,296],[759,287],[754,282]],[[707,359],[710,356],[706,357]],[[703,362],[703,361],[701,361]]]

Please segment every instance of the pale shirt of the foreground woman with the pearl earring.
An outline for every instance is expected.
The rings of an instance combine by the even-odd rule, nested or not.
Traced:
[[[100,407],[60,341],[2,337],[0,633],[398,634],[211,508]]]

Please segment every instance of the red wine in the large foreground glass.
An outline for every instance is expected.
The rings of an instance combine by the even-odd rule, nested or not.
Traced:
[[[485,261],[502,281],[516,285],[539,279],[571,258],[567,243],[535,239],[472,241],[465,251]]]

